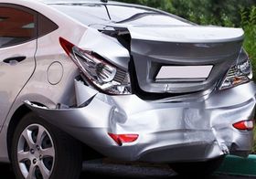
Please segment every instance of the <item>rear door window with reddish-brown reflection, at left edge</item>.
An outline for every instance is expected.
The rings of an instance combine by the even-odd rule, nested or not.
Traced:
[[[37,16],[29,11],[23,7],[0,6],[0,48],[37,37]]]

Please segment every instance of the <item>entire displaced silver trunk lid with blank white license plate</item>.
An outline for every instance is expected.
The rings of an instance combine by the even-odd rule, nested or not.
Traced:
[[[128,26],[138,85],[146,92],[210,89],[240,53],[243,30],[216,26]]]

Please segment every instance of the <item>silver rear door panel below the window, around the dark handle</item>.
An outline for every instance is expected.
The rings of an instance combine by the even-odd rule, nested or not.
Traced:
[[[23,50],[26,48],[27,50]],[[11,106],[36,68],[37,40],[15,47],[0,48],[0,131]],[[26,57],[23,61],[5,63],[7,58]]]

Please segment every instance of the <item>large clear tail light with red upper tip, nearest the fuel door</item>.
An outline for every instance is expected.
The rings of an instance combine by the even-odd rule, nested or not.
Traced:
[[[131,94],[130,75],[90,50],[83,50],[59,37],[61,47],[80,68],[88,82],[108,94]]]

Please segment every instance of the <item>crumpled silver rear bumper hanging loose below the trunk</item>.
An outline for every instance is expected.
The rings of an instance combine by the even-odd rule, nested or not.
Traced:
[[[252,132],[240,132],[232,124],[253,119],[253,82],[216,90],[187,102],[108,96],[86,86],[80,86],[76,92],[80,100],[93,99],[83,108],[47,109],[29,102],[27,105],[108,157],[169,163],[205,161],[226,153],[246,155],[251,151]],[[108,132],[139,134],[139,138],[119,146]]]

